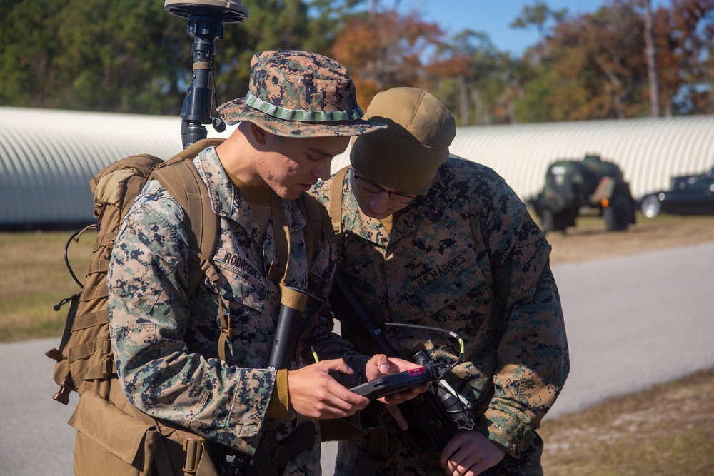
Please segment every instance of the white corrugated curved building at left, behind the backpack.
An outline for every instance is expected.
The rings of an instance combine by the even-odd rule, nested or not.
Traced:
[[[91,222],[89,177],[137,153],[173,156],[180,131],[178,116],[0,107],[0,225]]]

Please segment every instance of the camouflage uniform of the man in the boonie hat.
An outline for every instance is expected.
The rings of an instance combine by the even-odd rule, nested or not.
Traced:
[[[129,402],[140,410],[170,420],[208,440],[251,454],[273,394],[276,371],[266,369],[280,308],[280,290],[266,278],[276,260],[273,227],[263,242],[248,203],[237,193],[211,147],[194,160],[208,186],[219,218],[213,263],[220,289],[205,280],[196,295],[186,297],[188,244],[183,211],[158,182],[151,181],[126,216],[116,239],[108,274],[111,342],[116,366]],[[323,235],[306,261],[302,228],[306,218],[293,201],[281,200],[291,230],[291,266],[286,285],[325,298],[336,266],[336,249]],[[218,358],[216,291],[226,303],[233,338],[226,361]],[[349,345],[331,333],[323,316],[303,335],[303,348],[346,358],[356,375],[366,358],[348,352]],[[306,331],[307,333],[307,331]],[[299,366],[301,363],[295,363]],[[303,417],[300,417],[303,419]],[[287,427],[298,420],[290,410]],[[289,432],[282,428],[283,435]],[[320,474],[320,445],[301,453],[286,474]]]

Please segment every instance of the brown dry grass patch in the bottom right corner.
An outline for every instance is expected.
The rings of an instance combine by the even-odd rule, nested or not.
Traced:
[[[549,476],[714,474],[714,369],[555,420],[539,430]]]

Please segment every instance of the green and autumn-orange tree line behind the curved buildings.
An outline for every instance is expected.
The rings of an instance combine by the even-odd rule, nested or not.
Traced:
[[[714,0],[608,0],[591,14],[533,0],[511,23],[538,31],[519,58],[396,4],[243,0],[248,20],[216,41],[217,102],[245,95],[254,52],[306,49],[347,67],[365,109],[418,86],[461,126],[714,111]],[[161,0],[0,0],[0,25],[4,106],[177,114],[191,84],[186,19]]]

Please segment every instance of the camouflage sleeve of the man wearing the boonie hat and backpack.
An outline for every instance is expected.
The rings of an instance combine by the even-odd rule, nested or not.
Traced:
[[[184,291],[186,243],[183,211],[150,182],[116,238],[107,277],[120,381],[149,415],[252,453],[275,371],[229,365],[187,345],[197,324]],[[213,316],[192,319],[199,317],[216,325]]]

